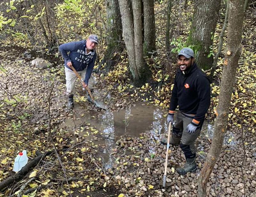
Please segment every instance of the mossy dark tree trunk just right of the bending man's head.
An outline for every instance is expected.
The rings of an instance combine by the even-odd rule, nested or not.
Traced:
[[[106,43],[107,51],[99,64],[97,70],[102,64],[106,63],[106,70],[110,70],[115,65],[114,53],[123,50],[122,44],[122,22],[118,0],[106,0]]]

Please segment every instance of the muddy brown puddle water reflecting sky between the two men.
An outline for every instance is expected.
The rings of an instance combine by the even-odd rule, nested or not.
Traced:
[[[87,122],[90,123],[90,126],[99,130],[100,139],[95,141],[95,144],[104,145],[104,148],[98,156],[104,159],[105,167],[109,168],[115,162],[115,158],[110,154],[115,148],[116,140],[121,135],[139,137],[140,133],[150,132],[152,139],[160,141],[159,136],[163,136],[162,134],[168,132],[166,114],[166,110],[148,106],[144,103],[135,103],[118,112],[106,110],[101,113],[97,111],[88,112],[84,107],[79,107],[79,104],[75,104],[74,118],[68,119],[65,122],[65,126],[72,130]],[[213,125],[205,121],[201,135],[206,139],[212,140]],[[231,132],[227,132],[224,143],[233,143],[232,136]],[[200,146],[200,142],[199,151],[204,151],[204,147]],[[125,154],[131,153],[126,151]]]

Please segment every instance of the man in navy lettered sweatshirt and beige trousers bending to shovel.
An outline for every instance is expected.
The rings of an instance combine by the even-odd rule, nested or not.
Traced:
[[[70,68],[73,66],[78,74],[80,74],[84,80],[84,87],[93,92],[95,79],[92,76],[92,70],[96,59],[95,48],[98,44],[97,35],[89,35],[87,40],[73,41],[69,43],[61,44],[59,50],[64,58],[65,74],[66,74],[66,86],[68,94],[67,109],[70,110],[74,107],[74,93],[76,74]],[[87,99],[90,101],[90,96],[87,95]]]

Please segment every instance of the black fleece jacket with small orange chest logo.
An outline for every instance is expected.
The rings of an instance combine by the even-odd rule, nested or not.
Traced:
[[[194,120],[200,122],[210,106],[210,81],[194,62],[190,69],[183,74],[179,69],[175,75],[170,111],[179,110],[185,114],[196,114]]]

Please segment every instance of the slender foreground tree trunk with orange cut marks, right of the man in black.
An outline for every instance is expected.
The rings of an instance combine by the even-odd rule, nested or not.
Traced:
[[[228,38],[225,52],[224,67],[220,86],[219,103],[216,110],[214,134],[211,149],[198,179],[198,196],[206,197],[206,185],[212,169],[221,152],[233,91],[236,68],[242,52],[242,28],[244,18],[244,0],[229,1]]]

